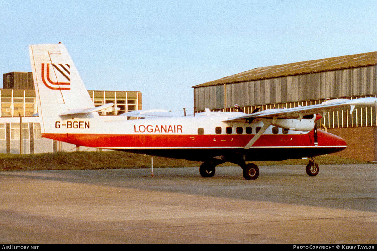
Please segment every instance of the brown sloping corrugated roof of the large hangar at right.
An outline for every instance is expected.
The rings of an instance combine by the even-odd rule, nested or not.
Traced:
[[[255,68],[192,88],[377,65],[377,51]]]

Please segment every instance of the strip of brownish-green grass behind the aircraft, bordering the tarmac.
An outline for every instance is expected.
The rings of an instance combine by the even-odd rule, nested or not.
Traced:
[[[339,156],[319,156],[316,162],[321,165],[374,163]],[[199,167],[201,163],[189,160],[153,157],[153,167],[155,168]],[[306,165],[308,160],[255,161],[253,163],[258,166]],[[0,171],[150,168],[150,166],[150,156],[121,151],[0,154]],[[235,166],[235,164],[224,163],[219,166]]]

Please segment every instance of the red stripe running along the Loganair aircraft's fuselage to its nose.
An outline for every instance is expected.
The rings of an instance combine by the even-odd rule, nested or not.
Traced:
[[[74,145],[100,148],[237,148],[244,147],[254,135],[113,135],[113,134],[43,134],[45,138]],[[319,146],[345,146],[344,139],[318,131]],[[253,147],[314,146],[313,132],[292,135],[262,135]]]

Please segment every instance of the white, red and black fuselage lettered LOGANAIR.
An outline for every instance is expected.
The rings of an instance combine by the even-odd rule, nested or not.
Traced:
[[[51,121],[65,133],[44,133],[46,138],[77,146],[97,147],[205,161],[211,157],[242,154],[246,161],[313,157],[341,151],[346,142],[330,133],[300,132],[270,126],[249,148],[263,122],[224,122],[240,113],[126,120],[124,116]]]

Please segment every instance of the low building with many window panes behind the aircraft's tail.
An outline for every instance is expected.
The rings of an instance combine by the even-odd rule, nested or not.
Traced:
[[[120,110],[100,115],[120,115],[142,109],[139,91],[88,91],[95,106],[114,103]],[[0,89],[0,153],[47,153],[57,151],[96,151],[96,148],[75,145],[41,137],[41,124],[35,103],[32,73],[3,74]],[[22,140],[20,115],[22,116]],[[22,143],[21,143],[22,142]],[[20,145],[22,149],[20,148]]]

